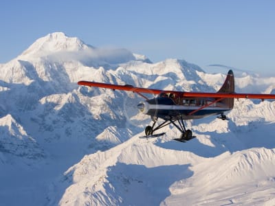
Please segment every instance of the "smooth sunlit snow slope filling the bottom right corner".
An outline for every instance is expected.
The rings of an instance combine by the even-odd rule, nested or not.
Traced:
[[[190,179],[172,185],[171,196],[166,203],[274,204],[274,152],[274,149],[256,148],[232,155],[225,152],[220,157],[207,159],[192,168],[194,175]]]

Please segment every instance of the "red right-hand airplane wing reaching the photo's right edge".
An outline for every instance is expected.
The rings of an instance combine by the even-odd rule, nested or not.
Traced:
[[[272,94],[260,93],[200,93],[200,92],[184,92],[184,97],[188,98],[245,98],[245,99],[275,99]]]

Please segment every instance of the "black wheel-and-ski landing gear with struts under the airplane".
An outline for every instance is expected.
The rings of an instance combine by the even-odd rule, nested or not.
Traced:
[[[164,120],[164,122],[162,122],[162,124],[159,124],[159,126],[155,127],[155,124],[157,123],[157,118],[152,118],[153,120],[153,126],[146,126],[145,128],[145,136],[146,138],[149,137],[159,137],[164,135],[165,133],[160,133],[160,134],[153,134],[156,130],[159,130],[160,128],[163,128],[164,126],[168,126],[169,124],[173,124],[180,132],[181,132],[181,137],[180,138],[175,138],[175,140],[177,141],[181,141],[181,142],[185,142],[188,141],[190,139],[195,138],[194,136],[192,136],[192,131],[191,130],[186,130],[185,126],[184,126],[184,120],[182,119],[182,117],[179,117],[177,119],[172,119],[172,117],[170,117],[170,119],[166,119]]]

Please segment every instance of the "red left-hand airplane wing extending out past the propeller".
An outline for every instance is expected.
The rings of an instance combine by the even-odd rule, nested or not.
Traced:
[[[140,88],[140,87],[133,87],[132,85],[117,85],[117,84],[105,84],[105,83],[99,83],[99,82],[87,82],[87,81],[80,81],[78,82],[79,85],[83,86],[89,86],[89,87],[100,87],[100,88],[106,88],[106,89],[118,89],[118,90],[124,90],[124,91],[133,91],[136,93],[153,93],[153,94],[159,94],[162,93],[162,90],[159,89],[146,89],[146,88]]]

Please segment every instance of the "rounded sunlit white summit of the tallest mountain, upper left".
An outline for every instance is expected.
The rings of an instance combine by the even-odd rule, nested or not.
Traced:
[[[88,47],[79,38],[66,36],[63,32],[54,32],[37,39],[21,56],[46,56],[53,52],[77,52]]]

